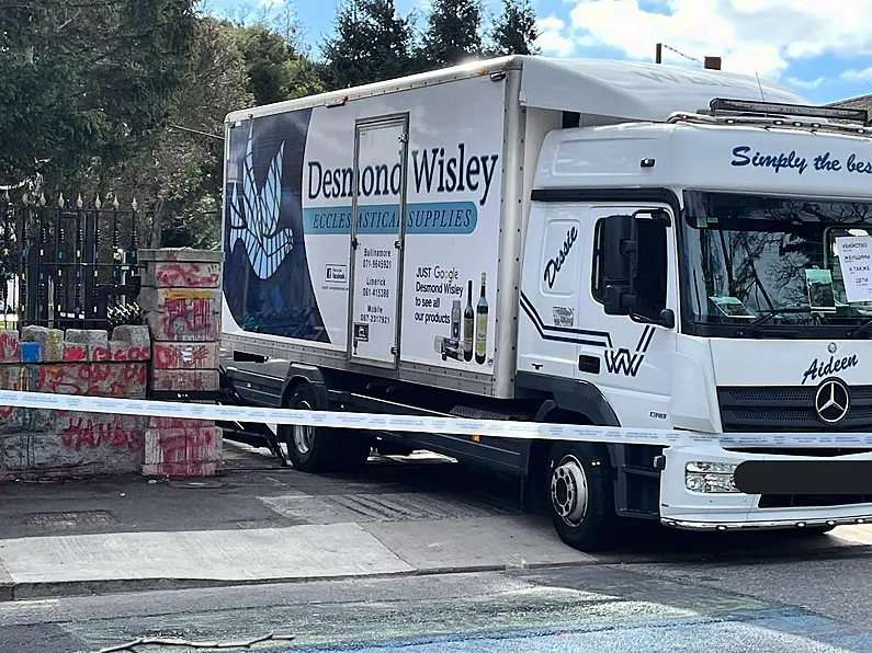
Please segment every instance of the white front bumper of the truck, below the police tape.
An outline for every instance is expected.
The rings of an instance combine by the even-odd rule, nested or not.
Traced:
[[[698,492],[686,486],[689,462],[738,465],[745,460],[820,460],[813,456],[779,456],[731,451],[717,446],[667,447],[660,476],[660,522],[684,530],[771,530],[872,524],[872,501],[838,505],[759,507],[759,494]],[[872,454],[840,460],[872,460]],[[870,497],[872,499],[872,497]]]

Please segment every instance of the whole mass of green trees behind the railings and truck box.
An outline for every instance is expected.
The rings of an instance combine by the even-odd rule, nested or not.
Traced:
[[[230,111],[536,53],[529,0],[503,0],[489,28],[482,0],[432,0],[420,34],[395,0],[342,0],[321,60],[293,2],[249,4],[230,21],[197,14],[202,0],[3,3],[0,185],[44,175],[73,195],[136,197],[157,205],[165,245],[217,247]]]

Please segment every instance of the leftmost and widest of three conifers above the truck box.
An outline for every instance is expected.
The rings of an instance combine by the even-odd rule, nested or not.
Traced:
[[[321,47],[330,88],[383,81],[414,70],[412,19],[398,15],[394,0],[346,0],[333,25],[336,35]]]

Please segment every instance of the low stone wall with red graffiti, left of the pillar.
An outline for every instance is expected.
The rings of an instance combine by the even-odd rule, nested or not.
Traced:
[[[144,399],[146,326],[0,331],[0,388]],[[147,417],[0,406],[0,480],[138,471]]]

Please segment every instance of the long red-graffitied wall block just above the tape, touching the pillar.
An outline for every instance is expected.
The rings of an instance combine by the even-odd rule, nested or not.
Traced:
[[[32,390],[56,394],[144,398],[145,363],[65,363],[39,365]]]

